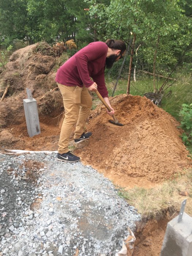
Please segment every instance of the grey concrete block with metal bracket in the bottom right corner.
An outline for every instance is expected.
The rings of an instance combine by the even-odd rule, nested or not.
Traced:
[[[168,222],[160,256],[192,256],[192,217],[185,212]]]

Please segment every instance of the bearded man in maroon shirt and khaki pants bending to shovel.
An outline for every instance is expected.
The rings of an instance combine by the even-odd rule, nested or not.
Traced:
[[[108,114],[110,116],[114,114],[105,86],[104,71],[105,66],[112,68],[113,63],[120,60],[125,51],[125,42],[121,40],[93,42],[79,50],[58,69],[56,82],[63,96],[65,118],[61,127],[57,160],[77,162],[80,159],[68,149],[74,124],[76,124],[75,143],[89,139],[92,134],[84,133],[86,119],[92,106],[89,91],[98,90],[111,109],[110,112],[107,110]]]

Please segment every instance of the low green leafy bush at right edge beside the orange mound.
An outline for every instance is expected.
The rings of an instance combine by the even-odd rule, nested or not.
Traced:
[[[182,141],[186,146],[190,146],[192,143],[192,103],[182,104],[180,116],[182,117],[181,128],[185,130],[182,133]]]

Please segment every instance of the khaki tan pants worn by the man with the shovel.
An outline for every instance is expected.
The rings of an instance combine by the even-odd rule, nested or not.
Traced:
[[[68,144],[72,128],[76,124],[74,139],[79,139],[84,132],[86,119],[89,116],[92,98],[86,87],[65,86],[57,83],[63,96],[65,118],[61,127],[58,153],[69,151]]]

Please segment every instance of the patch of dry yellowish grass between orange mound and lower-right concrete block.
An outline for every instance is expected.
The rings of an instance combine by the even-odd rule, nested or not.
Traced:
[[[186,192],[187,196],[180,195],[182,192]],[[163,215],[164,210],[168,208],[179,211],[182,200],[187,197],[185,212],[192,215],[192,169],[155,188],[135,187],[128,191],[118,188],[118,194],[134,206],[142,217],[148,218]]]

